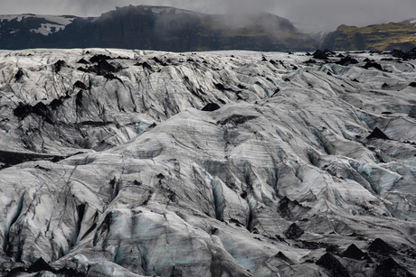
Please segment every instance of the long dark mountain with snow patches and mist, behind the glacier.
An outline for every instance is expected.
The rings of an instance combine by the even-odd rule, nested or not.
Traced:
[[[3,20],[2,20],[3,18]],[[0,16],[0,49],[122,48],[159,51],[310,51],[317,42],[273,14],[199,14],[125,6],[99,17]]]

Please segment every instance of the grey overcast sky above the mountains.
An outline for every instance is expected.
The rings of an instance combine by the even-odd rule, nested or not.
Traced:
[[[208,14],[269,12],[314,32],[416,18],[416,0],[0,0],[0,14],[97,16],[124,5],[170,5]]]

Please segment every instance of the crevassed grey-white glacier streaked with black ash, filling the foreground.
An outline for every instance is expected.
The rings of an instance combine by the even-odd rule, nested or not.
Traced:
[[[0,51],[0,274],[414,276],[416,61],[326,56]]]

